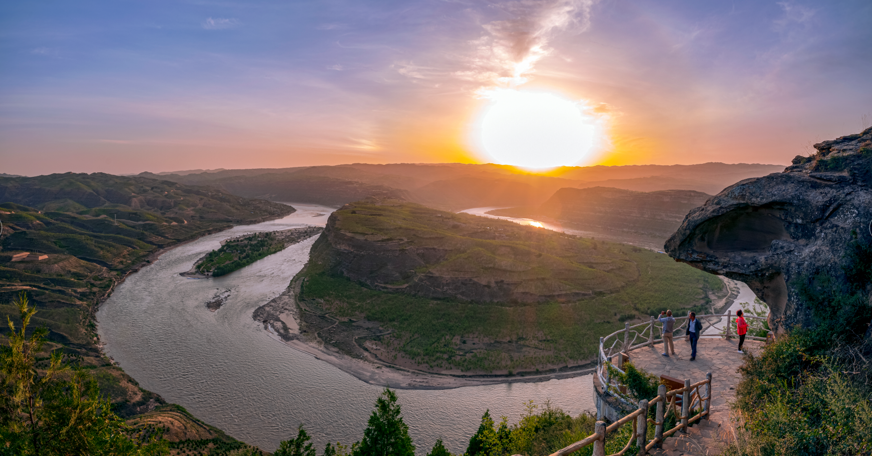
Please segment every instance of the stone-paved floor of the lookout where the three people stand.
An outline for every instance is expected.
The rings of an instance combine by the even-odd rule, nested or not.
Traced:
[[[724,444],[732,439],[729,420],[729,405],[735,397],[735,387],[739,382],[739,366],[742,355],[736,352],[739,341],[720,337],[705,338],[697,344],[697,358],[691,361],[691,344],[684,337],[675,340],[677,356],[664,357],[663,344],[643,347],[630,351],[630,361],[636,367],[659,376],[684,380],[690,378],[691,384],[705,380],[705,373],[712,372],[712,415],[711,419],[700,420],[687,434],[676,432],[666,439],[663,448],[652,451],[660,456],[712,456],[722,453]],[[743,348],[760,350],[762,342],[745,341]]]

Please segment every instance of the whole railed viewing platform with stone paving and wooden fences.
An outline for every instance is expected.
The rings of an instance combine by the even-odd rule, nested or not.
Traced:
[[[567,456],[585,446],[593,446],[593,456],[605,456],[610,446],[613,456],[632,453],[669,456],[708,456],[719,454],[724,444],[734,438],[730,424],[729,402],[739,383],[743,354],[738,352],[739,336],[732,311],[725,314],[698,315],[696,358],[691,361],[691,344],[685,340],[690,316],[675,317],[674,356],[664,356],[663,325],[654,316],[644,323],[624,323],[606,337],[600,337],[599,357],[594,375],[596,426],[587,438],[552,453]],[[757,351],[762,343],[774,340],[765,330],[766,318],[745,316],[753,323],[749,329],[766,337],[747,335],[743,349]],[[636,398],[625,381],[630,364],[660,378],[654,398]],[[623,380],[622,380],[623,379]],[[651,415],[654,415],[653,418]],[[627,439],[623,449],[609,439]]]

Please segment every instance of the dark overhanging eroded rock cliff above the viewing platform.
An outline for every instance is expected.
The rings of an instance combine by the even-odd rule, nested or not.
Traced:
[[[812,324],[798,284],[821,273],[845,281],[848,245],[872,241],[872,128],[814,148],[691,210],[664,246],[676,261],[746,282],[778,331]]]

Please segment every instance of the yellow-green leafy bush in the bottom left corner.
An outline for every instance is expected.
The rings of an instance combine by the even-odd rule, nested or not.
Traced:
[[[9,344],[0,347],[0,442],[3,454],[168,454],[163,444],[138,446],[130,430],[100,397],[97,381],[81,369],[71,369],[60,351],[51,352],[49,365],[37,371],[48,330],[27,326],[37,310],[24,293],[14,303],[19,329],[10,325]]]

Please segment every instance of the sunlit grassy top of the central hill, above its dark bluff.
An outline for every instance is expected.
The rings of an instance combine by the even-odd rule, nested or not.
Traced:
[[[510,221],[453,214],[407,202],[375,205],[367,201],[337,211],[331,220],[336,231],[369,242],[375,250],[384,252],[380,246],[399,242],[399,255],[373,254],[371,258],[381,255],[376,262],[353,268],[351,278],[370,284],[398,285],[434,276],[450,281],[463,277],[480,283],[520,282],[513,294],[520,300],[535,300],[531,296],[612,292],[638,277],[636,265],[616,248],[617,244]],[[420,254],[406,254],[407,249]],[[388,267],[378,266],[384,262],[390,263]],[[414,266],[395,267],[399,264]],[[465,298],[482,296],[469,295]]]

